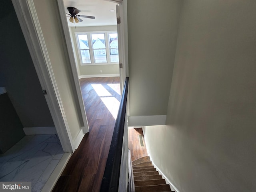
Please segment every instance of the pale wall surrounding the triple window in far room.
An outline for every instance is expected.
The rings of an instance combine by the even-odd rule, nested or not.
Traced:
[[[74,56],[76,58],[76,66],[80,72],[79,76],[108,76],[108,74],[119,74],[118,64],[105,65],[81,65],[78,55],[78,46],[76,42],[75,32],[90,32],[90,31],[116,31],[116,26],[93,26],[93,27],[70,27],[70,36],[72,39]],[[102,71],[102,72],[100,72]]]

